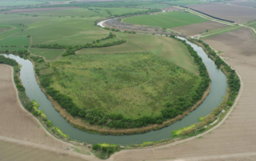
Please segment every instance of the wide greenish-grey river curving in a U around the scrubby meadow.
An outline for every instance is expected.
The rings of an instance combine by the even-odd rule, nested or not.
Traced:
[[[182,37],[179,38],[186,40]],[[43,110],[48,120],[53,122],[55,127],[61,128],[63,133],[69,134],[71,139],[85,141],[86,143],[116,143],[125,145],[130,143],[143,143],[146,141],[168,139],[170,138],[172,131],[190,126],[190,124],[198,123],[198,117],[210,114],[214,108],[218,107],[218,104],[221,104],[223,99],[222,96],[226,94],[226,76],[220,69],[216,68],[214,61],[206,55],[201,47],[194,45],[190,41],[187,41],[187,43],[194,48],[200,57],[202,57],[202,61],[206,65],[211,79],[210,94],[206,97],[206,100],[204,100],[203,103],[194,110],[194,112],[190,112],[190,115],[186,116],[182,120],[157,131],[136,135],[98,135],[73,128],[57,111],[55,111],[50,100],[47,99],[41,88],[39,88],[34,77],[32,62],[12,54],[3,55],[14,59],[18,64],[22,65],[20,78],[22,80],[22,84],[26,88],[27,96],[29,96],[30,100],[36,100],[38,104],[40,104],[38,109]]]

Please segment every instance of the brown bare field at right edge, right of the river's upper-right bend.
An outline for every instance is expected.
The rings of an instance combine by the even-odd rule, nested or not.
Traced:
[[[208,37],[204,41],[220,50],[222,57],[256,63],[256,40],[251,29],[241,28]]]

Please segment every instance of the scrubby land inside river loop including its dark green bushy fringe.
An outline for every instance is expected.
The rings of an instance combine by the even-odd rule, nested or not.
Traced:
[[[186,45],[185,41],[182,41],[182,43]],[[150,53],[136,53],[132,57],[135,57],[137,61],[132,59],[132,64],[129,63],[128,57],[123,57],[127,53],[111,54],[116,57],[113,59],[114,61],[126,60],[126,63],[117,61],[116,63],[121,63],[122,65],[116,64],[117,67],[115,68],[113,66],[112,68],[106,68],[104,63],[107,65],[112,64],[109,60],[110,55],[102,54],[69,57],[69,59],[54,61],[50,65],[54,69],[54,77],[51,77],[51,75],[42,76],[41,84],[46,88],[46,92],[54,100],[58,101],[62,108],[65,108],[72,116],[81,117],[90,124],[104,125],[109,128],[141,128],[147,124],[162,124],[163,121],[174,118],[182,114],[186,109],[191,108],[193,104],[201,99],[202,94],[209,85],[210,79],[202,59],[198,57],[190,45],[186,46],[191,56],[194,57],[194,62],[198,65],[200,71],[201,81],[199,81],[200,85],[197,88],[194,88],[193,85],[198,81],[195,77],[192,80],[187,80],[186,77],[178,77],[178,75],[186,73],[184,69],[178,68],[178,66],[174,67],[168,61],[159,59]],[[148,59],[140,60],[141,57],[138,57],[139,55],[148,57]],[[106,62],[100,61],[101,59]],[[159,65],[166,65],[166,67],[160,68]],[[150,67],[153,69],[150,69]],[[62,72],[59,72],[59,69],[62,69]],[[172,72],[163,73],[166,69]],[[152,75],[152,72],[160,73],[160,75]],[[81,77],[81,73],[90,77]],[[88,83],[82,85],[85,79],[88,80],[86,81]],[[160,83],[160,80],[162,83]],[[167,83],[166,80],[170,82]],[[120,82],[118,83],[118,81]],[[153,84],[157,86],[152,91],[150,86]],[[158,84],[161,85],[159,86]],[[178,91],[175,91],[177,90],[175,85],[180,87]],[[135,93],[130,93],[134,96],[130,94],[123,94],[122,96],[118,92],[122,88],[126,88],[128,92],[130,92],[130,88],[133,88],[132,91],[135,89]],[[74,89],[76,92],[70,91],[70,89]],[[84,90],[86,90],[86,93],[82,92]],[[90,90],[93,92],[90,92]],[[185,94],[187,90],[190,90],[188,95]],[[129,97],[128,100],[125,99],[127,96]],[[145,96],[148,97],[146,100],[144,99]],[[138,99],[138,97],[142,98]],[[144,101],[146,101],[146,104]],[[112,108],[110,108],[111,106]]]

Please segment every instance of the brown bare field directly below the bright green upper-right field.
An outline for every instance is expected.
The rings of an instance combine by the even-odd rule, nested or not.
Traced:
[[[218,22],[201,22],[201,23],[195,23],[188,26],[180,26],[180,27],[174,27],[172,28],[174,31],[177,31],[178,33],[183,33],[188,36],[193,36],[202,32],[206,32],[206,29],[221,29],[223,27],[226,27],[227,25],[218,23]]]

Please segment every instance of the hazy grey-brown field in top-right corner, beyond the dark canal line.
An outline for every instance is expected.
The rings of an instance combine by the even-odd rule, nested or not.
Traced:
[[[190,5],[188,7],[210,14],[214,17],[231,20],[236,23],[246,23],[256,19],[256,12],[254,8],[222,5],[218,3],[205,3]]]

